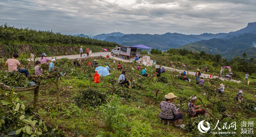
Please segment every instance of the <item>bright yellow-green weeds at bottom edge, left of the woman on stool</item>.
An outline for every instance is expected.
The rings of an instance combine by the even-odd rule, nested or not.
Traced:
[[[153,133],[154,130],[152,129],[150,123],[147,121],[136,120],[136,117],[133,118],[131,131],[129,132],[130,136],[150,137],[153,136]]]

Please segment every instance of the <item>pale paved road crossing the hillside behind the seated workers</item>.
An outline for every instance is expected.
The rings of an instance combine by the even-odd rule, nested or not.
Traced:
[[[90,56],[90,57],[97,57],[97,56],[103,56],[103,57],[106,57],[106,55],[110,55],[111,56],[111,52],[95,52],[95,53],[92,53],[92,56]],[[86,54],[83,54],[83,55],[86,55]],[[78,54],[78,55],[61,55],[61,56],[55,56],[56,58],[69,58],[69,59],[76,59],[76,58],[83,58],[83,57],[80,57],[80,54]],[[55,57],[48,57],[48,58],[55,58]],[[129,62],[129,59],[122,59],[122,57],[119,57],[119,56],[111,56],[111,57],[114,57],[114,59],[116,59],[116,60],[120,60],[120,61],[124,61],[124,62]],[[39,58],[38,58],[39,59]],[[165,66],[163,66],[165,69],[169,69],[169,70],[172,70],[172,69],[174,69],[174,68],[171,68],[171,67],[165,67]],[[174,69],[174,70],[176,70],[176,71],[178,71],[178,72],[183,72],[183,70],[178,70],[178,69]],[[195,75],[195,72],[189,72],[189,75]],[[209,74],[204,74],[204,73],[201,73],[201,77],[210,77],[210,75]],[[216,78],[216,77],[218,77],[218,76],[213,76],[212,78]],[[220,79],[221,80],[227,80],[226,78],[222,78],[222,77],[220,77]],[[240,83],[241,81],[238,81],[238,80],[235,80],[235,79],[231,79],[231,81],[233,81],[233,82],[237,82],[237,83]]]

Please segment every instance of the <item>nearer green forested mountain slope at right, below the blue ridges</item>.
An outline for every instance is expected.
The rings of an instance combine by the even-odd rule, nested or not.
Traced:
[[[193,52],[204,51],[211,54],[220,54],[227,59],[231,59],[241,53],[246,52],[248,57],[256,58],[256,34],[244,34],[231,39],[210,39],[189,43],[181,49]]]

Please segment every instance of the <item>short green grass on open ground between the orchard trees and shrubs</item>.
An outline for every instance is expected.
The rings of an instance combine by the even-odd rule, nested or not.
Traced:
[[[106,61],[108,62],[108,61]],[[125,65],[127,63],[121,62],[122,65]],[[111,65],[111,75],[115,77],[115,79],[118,79],[120,75],[120,71],[113,70],[113,67]],[[153,67],[147,67],[147,72],[150,72],[151,70],[155,71],[155,68]],[[75,71],[79,73],[83,73],[83,71],[78,68]],[[163,125],[159,119],[159,104],[162,100],[164,100],[164,94],[159,94],[158,97],[155,97],[155,94],[151,94],[151,92],[154,92],[154,89],[160,89],[161,91],[165,91],[165,94],[168,94],[169,92],[173,92],[176,96],[186,96],[190,97],[194,94],[197,95],[197,97],[202,98],[203,102],[205,104],[209,103],[206,100],[206,97],[203,95],[204,93],[201,91],[201,87],[199,85],[195,85],[195,77],[191,77],[191,82],[185,82],[180,79],[177,80],[176,85],[172,85],[170,83],[170,71],[166,71],[166,73],[162,73],[161,76],[164,76],[168,79],[169,84],[166,85],[161,82],[151,82],[151,84],[148,86],[147,83],[143,83],[143,85],[146,87],[145,90],[136,90],[133,89],[132,92],[135,93],[135,96],[139,98],[139,100],[121,100],[121,103],[123,106],[126,106],[126,111],[130,110],[130,112],[126,112],[126,117],[131,123],[131,127],[127,128],[126,131],[129,134],[133,134],[134,136],[196,136],[196,133],[188,133],[180,128],[175,127],[167,127],[167,125]],[[141,71],[137,71],[137,74],[141,74]],[[107,76],[108,77],[108,76]],[[38,110],[42,109],[48,109],[51,107],[60,107],[59,109],[63,107],[70,106],[70,103],[73,102],[74,96],[79,96],[79,91],[86,89],[89,86],[89,80],[88,79],[78,79],[78,76],[76,74],[71,74],[66,77],[64,77],[61,80],[61,86],[67,87],[69,83],[71,83],[73,80],[75,82],[73,83],[71,89],[68,89],[64,93],[61,94],[60,102],[56,103],[56,97],[55,97],[55,85],[50,80],[45,80],[43,82],[43,85],[40,87],[39,92],[39,108]],[[211,86],[210,83],[208,83],[207,80],[205,80],[205,84],[207,86]],[[235,88],[232,88],[236,85]],[[108,93],[110,89],[106,88],[100,81],[100,83],[92,83],[93,88],[97,88],[98,90],[102,90]],[[245,97],[247,97],[249,100],[255,100],[255,85],[243,85],[243,84],[237,84],[235,82],[228,82],[227,86],[225,88],[225,92],[229,93],[231,91],[235,91],[233,93],[233,97],[235,98],[236,93],[239,90],[244,91]],[[217,91],[216,91],[217,92]],[[27,101],[30,106],[33,104],[33,92],[27,91],[27,92],[19,92],[18,93],[19,98],[21,100]],[[178,100],[174,101],[174,104],[178,105],[180,104]],[[186,124],[186,121],[188,121],[188,117],[186,116],[186,104],[183,108],[185,108],[184,114],[184,122],[182,124]],[[201,104],[200,101],[196,103],[197,105]],[[227,108],[227,113],[239,113],[238,108],[236,107],[236,101],[231,100],[230,102],[223,103],[224,106]],[[53,127],[58,126],[59,129],[64,129],[67,133],[67,136],[74,136],[75,133],[79,132],[81,135],[80,137],[85,136],[97,136],[101,134],[100,131],[104,132],[111,132],[107,129],[105,126],[105,122],[102,120],[101,113],[99,112],[99,109],[93,108],[93,107],[85,107],[81,108],[83,111],[80,115],[73,115],[71,118],[63,118],[63,117],[57,117],[57,118],[51,118],[47,117],[46,121],[48,124],[52,125]],[[150,113],[149,117],[146,117]],[[248,110],[245,110],[245,112],[242,114],[243,117],[246,119],[249,118],[255,118],[255,112],[251,112]],[[216,115],[217,117],[220,116],[219,113]],[[143,129],[143,127],[148,127],[147,129]],[[140,130],[141,129],[141,130]]]

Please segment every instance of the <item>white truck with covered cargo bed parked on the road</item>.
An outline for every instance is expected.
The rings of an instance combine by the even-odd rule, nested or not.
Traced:
[[[116,46],[111,50],[111,55],[121,56],[123,59],[140,57],[141,49],[131,48],[129,46]]]

